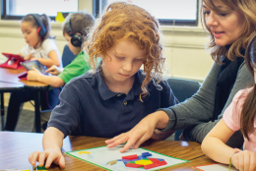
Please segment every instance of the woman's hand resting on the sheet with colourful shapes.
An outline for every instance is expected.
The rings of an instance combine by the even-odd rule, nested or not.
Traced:
[[[167,122],[167,114],[163,111],[158,111],[146,116],[131,131],[123,133],[105,142],[108,143],[107,147],[109,148],[126,142],[120,152],[126,151],[131,146],[136,149],[141,143],[146,142],[153,137],[156,128],[165,128]]]

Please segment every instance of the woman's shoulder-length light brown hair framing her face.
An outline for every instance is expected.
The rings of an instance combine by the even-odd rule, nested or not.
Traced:
[[[241,49],[246,49],[247,44],[250,39],[252,39],[253,34],[256,32],[256,2],[255,0],[218,0],[223,3],[229,9],[220,9],[214,4],[215,0],[202,0],[201,4],[201,21],[202,26],[206,32],[210,35],[210,42],[208,48],[211,48],[212,58],[219,64],[222,64],[223,57],[226,56],[229,60],[233,61],[237,56],[244,57],[241,54]],[[234,41],[230,47],[219,46],[215,42],[214,34],[211,29],[207,27],[205,14],[203,10],[203,3],[205,3],[211,10],[216,11],[220,14],[226,14],[230,11],[236,11],[237,13],[243,15],[244,25],[241,29],[241,36]]]

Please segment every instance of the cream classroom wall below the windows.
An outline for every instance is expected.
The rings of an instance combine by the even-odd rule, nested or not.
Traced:
[[[1,9],[1,8],[0,8]],[[79,10],[93,13],[93,0],[79,0]],[[61,24],[52,23],[52,35],[62,54],[66,40]],[[203,82],[213,60],[205,50],[207,34],[199,27],[160,27],[163,33],[163,54],[166,58],[166,77],[182,78]],[[18,53],[26,42],[20,29],[20,21],[0,20],[0,63],[5,61],[2,52]],[[7,97],[8,98],[8,97]],[[7,102],[7,100],[5,100]]]

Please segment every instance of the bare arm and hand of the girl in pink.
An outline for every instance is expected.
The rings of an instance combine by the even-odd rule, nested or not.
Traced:
[[[237,148],[231,148],[225,144],[235,131],[231,130],[222,119],[214,129],[206,136],[202,142],[202,150],[210,158],[217,162],[229,164],[231,157],[232,164],[239,170],[254,170],[256,165],[256,157],[254,152]]]

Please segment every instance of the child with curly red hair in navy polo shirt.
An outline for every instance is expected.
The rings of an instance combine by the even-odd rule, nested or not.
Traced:
[[[52,162],[64,168],[61,147],[68,135],[112,138],[149,113],[178,102],[161,80],[159,23],[144,9],[110,4],[85,46],[94,72],[64,86],[44,132],[44,151],[29,156],[32,165],[38,161],[42,166],[46,160],[46,168]],[[102,59],[97,68],[96,58]]]

